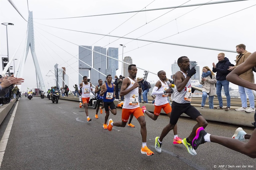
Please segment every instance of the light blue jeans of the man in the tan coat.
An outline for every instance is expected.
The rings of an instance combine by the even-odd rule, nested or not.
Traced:
[[[238,86],[238,91],[242,101],[242,107],[247,108],[247,93],[250,102],[250,107],[254,109],[254,95],[252,93],[252,90],[249,88]]]

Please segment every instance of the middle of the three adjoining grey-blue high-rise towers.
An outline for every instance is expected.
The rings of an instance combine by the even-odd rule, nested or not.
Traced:
[[[107,57],[106,55],[106,48],[102,48],[100,46],[94,46],[94,51],[97,51],[99,53],[93,52],[93,68],[100,71],[101,73],[107,75]],[[104,54],[104,55],[102,55]],[[106,76],[102,75],[98,71],[92,69],[91,70],[91,83],[94,86],[98,85],[98,80],[102,79],[103,82],[106,80]]]

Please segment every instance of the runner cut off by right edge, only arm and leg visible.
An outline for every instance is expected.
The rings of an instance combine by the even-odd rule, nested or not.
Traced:
[[[233,71],[231,71],[227,75],[227,80],[236,85],[256,90],[256,85],[254,83],[248,82],[239,77],[239,75],[251,70],[253,67],[256,67],[256,52],[252,53],[242,64],[240,64]],[[256,113],[254,113],[254,121],[255,122],[252,124],[256,128]],[[197,149],[199,145],[205,142],[219,143],[222,146],[250,156],[251,158],[256,158],[256,129],[254,129],[254,131],[252,132],[249,141],[247,143],[244,143],[234,138],[211,135],[205,132],[203,127],[199,127],[196,131],[196,137],[192,141],[193,148]]]

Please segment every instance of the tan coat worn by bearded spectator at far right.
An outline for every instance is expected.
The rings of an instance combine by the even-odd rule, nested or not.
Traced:
[[[236,66],[234,68],[236,68],[237,66],[242,64],[251,54],[252,53],[250,53],[247,50],[245,50],[243,52],[243,54],[237,55],[237,57],[236,57]],[[254,83],[254,75],[253,75],[252,69],[250,69],[247,72],[241,74],[239,77],[241,79],[243,79],[243,80],[246,80],[248,82]]]

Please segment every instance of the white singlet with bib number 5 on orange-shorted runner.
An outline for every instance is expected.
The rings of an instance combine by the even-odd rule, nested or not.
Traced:
[[[135,83],[135,81],[133,81],[130,77],[128,77],[128,79],[131,81],[131,84],[126,89],[131,88]],[[123,109],[136,109],[138,107],[140,107],[139,87],[133,89],[127,95],[124,96]]]

